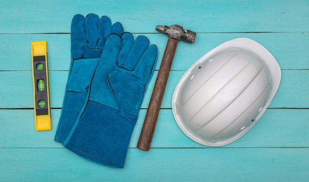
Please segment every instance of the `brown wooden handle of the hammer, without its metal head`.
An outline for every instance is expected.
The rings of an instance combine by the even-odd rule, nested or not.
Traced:
[[[150,98],[144,125],[137,143],[137,148],[149,150],[154,136],[154,129],[159,115],[163,94],[165,91],[169,72],[174,59],[178,39],[168,37],[165,52],[162,58],[160,69],[154,84],[154,90]]]

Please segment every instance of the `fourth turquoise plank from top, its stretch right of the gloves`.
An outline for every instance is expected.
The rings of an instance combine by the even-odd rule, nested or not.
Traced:
[[[140,113],[131,137],[132,147],[137,144],[145,115]],[[223,147],[308,147],[308,138],[309,109],[268,109],[243,137]],[[207,146],[187,137],[177,126],[172,111],[163,109],[160,110],[152,147]]]

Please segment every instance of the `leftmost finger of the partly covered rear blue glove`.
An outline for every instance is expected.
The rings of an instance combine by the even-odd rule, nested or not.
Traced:
[[[83,57],[83,51],[86,49],[87,38],[85,35],[85,17],[76,14],[71,24],[71,52],[73,59]]]

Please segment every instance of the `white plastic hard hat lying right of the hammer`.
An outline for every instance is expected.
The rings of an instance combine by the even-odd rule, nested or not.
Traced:
[[[222,146],[243,136],[278,90],[281,70],[259,43],[239,38],[198,59],[173,94],[173,114],[194,141]]]

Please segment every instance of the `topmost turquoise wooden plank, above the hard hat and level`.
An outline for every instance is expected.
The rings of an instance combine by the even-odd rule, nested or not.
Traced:
[[[307,0],[32,0],[0,6],[0,33],[68,33],[72,16],[108,15],[135,33],[181,24],[196,32],[307,32]],[[124,13],[125,12],[125,13]]]

